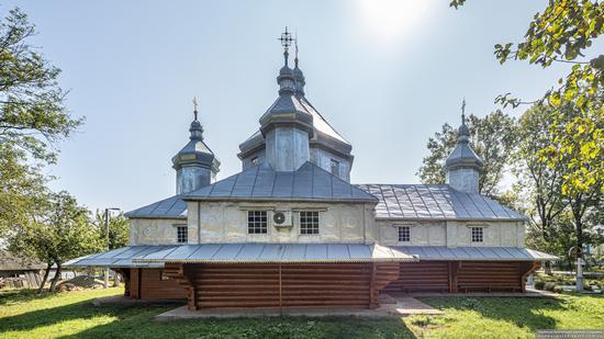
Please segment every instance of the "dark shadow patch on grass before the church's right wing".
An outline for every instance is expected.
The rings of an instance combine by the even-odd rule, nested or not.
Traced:
[[[532,330],[553,329],[556,319],[544,310],[566,310],[564,302],[552,297],[444,297],[422,298],[422,302],[445,310],[474,310],[482,317],[504,320]]]

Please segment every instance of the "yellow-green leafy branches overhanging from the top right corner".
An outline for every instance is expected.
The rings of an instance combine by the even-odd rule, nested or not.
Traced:
[[[466,0],[451,0],[456,9]],[[533,16],[524,41],[519,43],[496,44],[495,57],[501,64],[507,60],[527,60],[543,68],[553,63],[571,64],[566,78],[558,86],[545,92],[536,102],[548,104],[553,113],[552,121],[558,127],[557,157],[550,165],[564,162],[572,170],[562,183],[564,190],[589,191],[594,178],[604,177],[604,109],[602,91],[604,88],[604,55],[586,59],[585,50],[604,33],[604,2],[593,0],[550,0],[543,12]],[[517,106],[521,99],[511,93],[499,95],[495,102]],[[564,116],[564,104],[572,102],[578,109],[573,118]],[[577,135],[574,132],[579,132]],[[566,145],[566,147],[564,147]],[[575,148],[578,147],[578,148]],[[571,159],[572,157],[572,159]],[[593,162],[589,169],[583,163]],[[595,180],[597,181],[597,180]]]

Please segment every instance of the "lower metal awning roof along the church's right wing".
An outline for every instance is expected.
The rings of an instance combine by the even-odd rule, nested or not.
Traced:
[[[479,260],[479,261],[556,261],[560,258],[521,247],[457,247],[445,246],[395,246],[405,255],[422,260]]]

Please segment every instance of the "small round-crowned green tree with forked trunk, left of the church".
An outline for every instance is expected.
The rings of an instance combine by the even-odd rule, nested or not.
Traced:
[[[78,205],[75,197],[61,191],[48,194],[45,211],[27,227],[20,228],[10,239],[12,251],[35,257],[47,264],[41,290],[48,271],[56,265],[49,291],[60,278],[63,263],[92,253],[102,248],[98,230],[89,223],[88,210]]]

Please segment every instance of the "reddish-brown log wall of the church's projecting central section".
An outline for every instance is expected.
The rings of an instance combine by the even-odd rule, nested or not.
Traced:
[[[189,283],[190,309],[370,308],[399,269],[395,263],[212,263],[166,264],[166,272]]]

